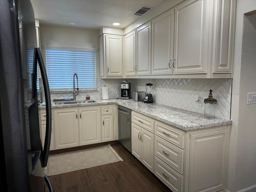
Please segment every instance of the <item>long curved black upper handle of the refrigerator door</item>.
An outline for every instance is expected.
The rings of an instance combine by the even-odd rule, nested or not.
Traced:
[[[48,78],[47,78],[42,54],[38,47],[35,47],[35,50],[36,50],[36,56],[35,56],[36,59],[34,60],[34,62],[38,61],[38,65],[41,70],[42,81],[44,84],[45,103],[46,103],[46,132],[45,132],[45,140],[44,140],[44,150],[42,151],[42,156],[41,156],[42,167],[46,167],[49,152],[50,152],[50,142],[51,142],[51,133],[52,133],[52,106],[51,106],[50,88],[48,84]]]

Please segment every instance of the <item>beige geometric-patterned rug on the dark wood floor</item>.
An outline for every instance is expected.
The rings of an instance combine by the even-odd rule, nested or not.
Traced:
[[[44,172],[48,176],[123,161],[110,144],[49,156]]]

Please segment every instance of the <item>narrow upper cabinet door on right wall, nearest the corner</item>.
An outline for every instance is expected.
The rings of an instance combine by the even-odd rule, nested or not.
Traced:
[[[124,36],[124,69],[126,76],[136,75],[136,37],[135,31]]]

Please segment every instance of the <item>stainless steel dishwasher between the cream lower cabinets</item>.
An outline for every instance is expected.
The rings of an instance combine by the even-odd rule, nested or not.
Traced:
[[[132,110],[118,105],[118,141],[129,152],[132,152],[131,112]]]

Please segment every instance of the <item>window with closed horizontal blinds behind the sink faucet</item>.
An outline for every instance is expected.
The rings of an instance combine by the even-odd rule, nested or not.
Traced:
[[[76,73],[80,90],[96,90],[95,52],[96,49],[46,48],[50,89],[52,91],[73,90],[73,76]]]

